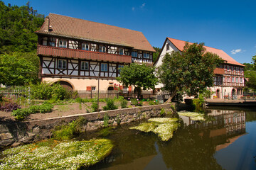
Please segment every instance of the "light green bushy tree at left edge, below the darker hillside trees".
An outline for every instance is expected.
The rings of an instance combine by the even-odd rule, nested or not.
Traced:
[[[0,84],[23,86],[38,81],[39,59],[36,52],[0,55]]]

